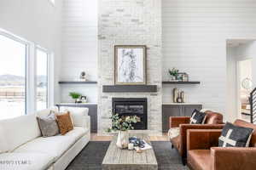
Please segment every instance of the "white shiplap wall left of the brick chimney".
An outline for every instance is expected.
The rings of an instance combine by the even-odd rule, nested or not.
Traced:
[[[97,80],[97,1],[63,1],[61,46],[61,80],[76,80],[81,71],[90,81]],[[97,101],[96,85],[61,85],[61,102],[73,101],[71,91]]]

